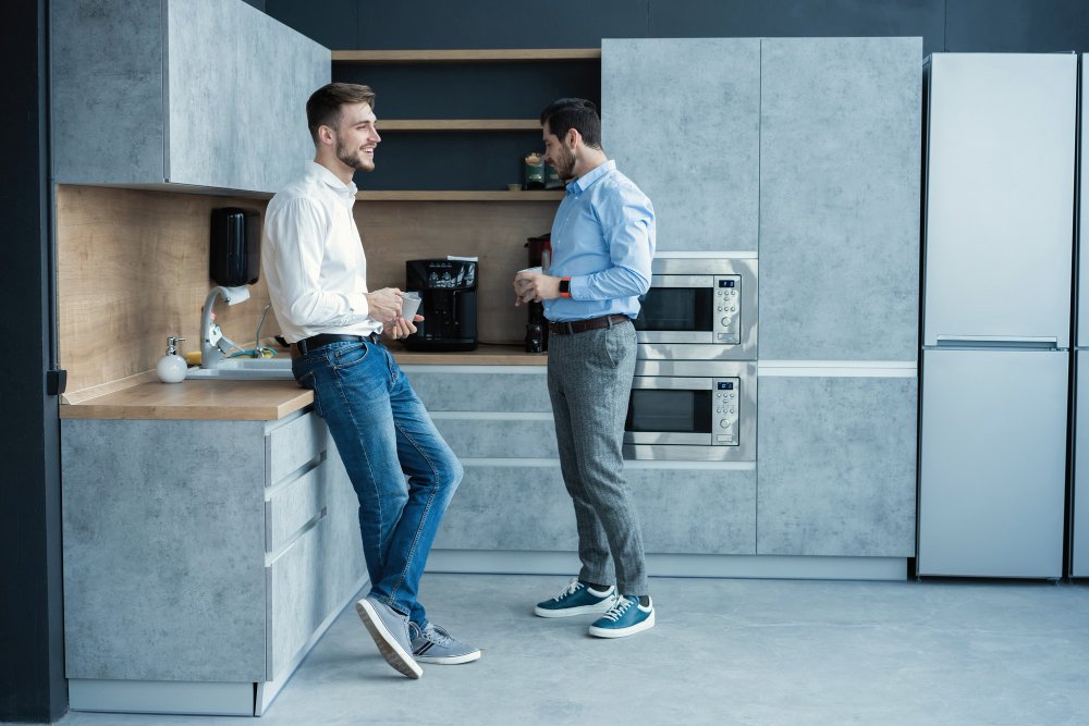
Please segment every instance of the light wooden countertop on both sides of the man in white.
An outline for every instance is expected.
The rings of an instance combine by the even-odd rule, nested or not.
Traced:
[[[548,356],[519,346],[487,345],[466,353],[394,349],[402,366],[544,366]],[[314,403],[295,381],[187,380],[161,383],[149,371],[101,395],[71,396],[61,418],[160,419],[182,421],[274,421]],[[97,391],[95,392],[97,393]]]

